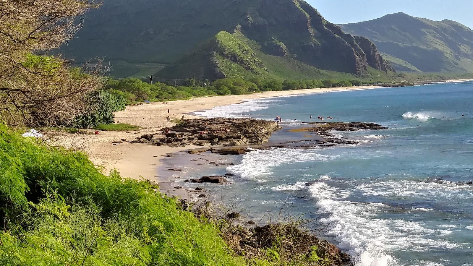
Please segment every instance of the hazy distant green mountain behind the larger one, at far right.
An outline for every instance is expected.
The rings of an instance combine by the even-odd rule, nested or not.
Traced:
[[[339,25],[373,41],[399,71],[473,71],[473,31],[452,20],[404,13]]]

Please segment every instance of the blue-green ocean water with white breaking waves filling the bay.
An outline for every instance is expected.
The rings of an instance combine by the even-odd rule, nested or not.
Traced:
[[[473,265],[472,82],[265,98],[200,115],[280,115],[285,129],[272,142],[310,138],[288,131],[318,121],[310,115],[389,127],[334,133],[359,141],[353,145],[206,155],[235,165],[189,163],[183,175],[235,174],[219,187],[222,199],[255,219],[283,208],[307,213],[357,266]]]

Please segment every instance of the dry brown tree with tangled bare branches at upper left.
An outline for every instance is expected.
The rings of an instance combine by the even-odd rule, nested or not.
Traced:
[[[61,46],[97,5],[88,0],[0,0],[0,119],[10,125],[57,126],[87,112],[102,79],[38,55]],[[96,68],[100,69],[100,67]]]

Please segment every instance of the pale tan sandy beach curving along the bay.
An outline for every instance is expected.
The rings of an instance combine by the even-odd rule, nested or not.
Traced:
[[[472,80],[447,80],[438,83],[465,81]],[[160,180],[158,177],[158,169],[162,165],[160,160],[165,158],[169,153],[199,148],[199,146],[170,148],[150,144],[129,142],[123,144],[112,144],[111,142],[120,139],[134,139],[142,134],[158,133],[158,131],[164,127],[173,126],[174,123],[166,121],[168,115],[171,119],[181,118],[182,115],[184,115],[185,118],[202,118],[202,116],[193,114],[195,112],[211,110],[217,106],[239,104],[250,99],[381,88],[388,87],[352,86],[341,88],[267,91],[254,94],[225,95],[169,101],[166,105],[161,102],[154,102],[151,104],[143,104],[141,106],[127,106],[125,110],[114,113],[115,123],[133,124],[143,127],[143,129],[136,132],[100,132],[100,135],[98,136],[75,135],[73,138],[74,142],[78,142],[81,146],[86,147],[85,151],[88,153],[90,160],[92,160],[97,166],[103,167],[105,173],[117,169],[126,177],[137,179],[145,178],[162,183],[166,182],[166,180]],[[167,109],[169,109],[169,114],[167,113]]]

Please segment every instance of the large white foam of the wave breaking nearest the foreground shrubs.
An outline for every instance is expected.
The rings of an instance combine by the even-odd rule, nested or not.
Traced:
[[[429,229],[420,222],[381,219],[392,207],[380,203],[348,201],[346,190],[318,182],[309,191],[323,215],[327,235],[339,248],[347,250],[357,266],[397,266],[390,249],[423,251],[433,248],[458,248],[460,244],[439,239],[452,233],[449,229]]]

